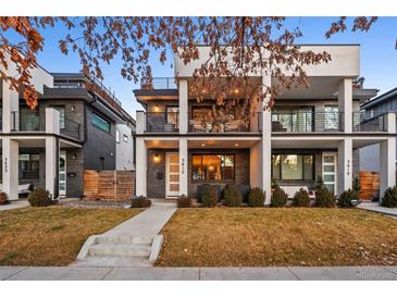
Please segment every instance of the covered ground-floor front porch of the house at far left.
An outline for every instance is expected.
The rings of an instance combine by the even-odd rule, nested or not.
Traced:
[[[49,135],[1,136],[0,139],[1,191],[10,200],[26,196],[34,187],[49,190],[54,199],[83,195],[79,144]]]

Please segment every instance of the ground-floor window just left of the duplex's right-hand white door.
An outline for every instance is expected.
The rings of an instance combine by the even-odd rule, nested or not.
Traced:
[[[274,154],[272,178],[277,181],[313,181],[313,154]]]

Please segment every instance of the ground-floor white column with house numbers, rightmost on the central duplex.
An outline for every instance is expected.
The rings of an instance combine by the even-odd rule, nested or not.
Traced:
[[[338,144],[337,157],[337,194],[338,196],[352,187],[352,140],[345,138]]]

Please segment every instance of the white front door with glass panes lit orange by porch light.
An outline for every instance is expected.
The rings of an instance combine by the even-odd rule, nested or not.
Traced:
[[[179,196],[179,154],[165,153],[165,197]]]

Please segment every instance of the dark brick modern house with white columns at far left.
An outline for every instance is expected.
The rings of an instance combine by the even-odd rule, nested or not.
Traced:
[[[117,152],[125,151],[119,147],[134,146],[135,121],[100,82],[80,73],[37,67],[33,82],[39,92],[34,110],[1,82],[1,190],[11,200],[30,184],[53,198],[83,197],[84,170],[115,170]],[[128,127],[120,146],[119,125]]]

